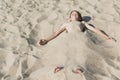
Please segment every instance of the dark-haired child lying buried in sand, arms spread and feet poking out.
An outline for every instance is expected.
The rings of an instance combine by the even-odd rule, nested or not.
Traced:
[[[69,37],[70,40],[68,42],[71,43],[71,41],[72,41],[72,43],[73,42],[77,43],[77,44],[73,43],[71,45],[71,47],[73,47],[73,48],[71,48],[71,49],[75,49],[76,47],[79,46],[76,49],[81,49],[80,53],[84,52],[82,50],[82,46],[80,46],[80,45],[83,45],[85,43],[84,42],[85,35],[83,34],[85,32],[85,30],[90,30],[90,31],[92,31],[92,32],[100,35],[101,37],[105,38],[108,41],[112,40],[111,37],[103,34],[99,29],[96,29],[96,28],[88,25],[86,22],[84,22],[82,20],[81,14],[78,11],[76,11],[76,10],[71,11],[69,19],[70,19],[69,22],[65,23],[64,25],[62,25],[62,27],[60,28],[60,30],[54,32],[52,35],[50,35],[46,39],[41,39],[40,42],[39,42],[39,44],[40,45],[47,44],[49,41],[53,40],[54,38],[56,38],[57,36],[59,36],[64,31],[67,31],[67,34],[69,34],[68,37]],[[84,24],[85,26],[82,26],[81,24]],[[74,38],[74,36],[78,36],[77,39]],[[54,69],[54,72],[56,73],[56,72],[60,71],[63,68],[64,67],[56,67]],[[74,72],[74,73],[80,73],[82,71],[81,71],[81,69],[76,69],[76,70],[72,70],[72,72]]]

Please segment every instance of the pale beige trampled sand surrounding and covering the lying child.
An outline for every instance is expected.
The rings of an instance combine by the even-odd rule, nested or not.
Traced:
[[[0,80],[120,80],[119,4],[119,0],[0,0]],[[78,50],[77,56],[67,54],[76,50],[67,44],[71,38],[66,40],[66,33],[39,45],[72,10],[117,41],[101,42],[88,31],[89,49],[81,45],[85,53]],[[54,73],[57,66],[64,68]],[[73,73],[77,67],[83,72]]]

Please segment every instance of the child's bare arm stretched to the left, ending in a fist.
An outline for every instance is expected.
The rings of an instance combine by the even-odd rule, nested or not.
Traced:
[[[45,45],[47,44],[49,41],[53,40],[54,38],[56,38],[58,35],[60,35],[62,32],[64,32],[66,30],[66,28],[62,28],[56,32],[53,32],[52,35],[50,35],[48,38],[46,39],[41,39],[39,44],[40,45]]]

